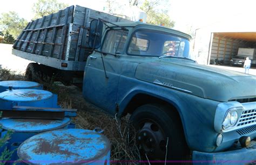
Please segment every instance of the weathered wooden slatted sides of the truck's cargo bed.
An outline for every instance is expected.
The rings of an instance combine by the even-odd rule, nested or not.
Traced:
[[[82,6],[70,6],[31,21],[13,47],[19,51],[56,59],[85,61],[90,54],[90,49],[87,48],[90,21],[98,18],[110,22],[130,21]]]

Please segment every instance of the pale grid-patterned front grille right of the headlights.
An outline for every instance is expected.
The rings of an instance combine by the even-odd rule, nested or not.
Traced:
[[[242,111],[237,126],[246,126],[256,124],[256,109]]]

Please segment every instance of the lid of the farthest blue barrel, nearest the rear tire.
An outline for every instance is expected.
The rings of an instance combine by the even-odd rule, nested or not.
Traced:
[[[16,88],[33,88],[33,87],[39,87],[41,84],[31,81],[1,81],[0,87],[12,87],[13,89]]]

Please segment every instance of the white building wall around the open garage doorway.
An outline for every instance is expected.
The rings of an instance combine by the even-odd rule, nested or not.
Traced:
[[[207,64],[210,62],[209,53],[211,54],[211,40],[213,40],[214,32],[256,32],[256,21],[253,21],[255,19],[253,17],[255,17],[255,15],[239,15],[228,20],[222,20],[218,23],[198,28],[196,30],[192,50],[194,59],[200,64]],[[234,50],[233,53],[235,53]]]

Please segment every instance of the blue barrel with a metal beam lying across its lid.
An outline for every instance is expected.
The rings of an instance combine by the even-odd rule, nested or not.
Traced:
[[[63,120],[3,118],[0,120],[0,124],[2,125],[1,138],[4,137],[8,130],[12,131],[11,138],[7,141],[7,144],[0,148],[0,152],[3,152],[5,147],[9,150],[17,149],[24,140],[38,133],[68,128],[70,118],[64,118]],[[17,152],[14,152],[11,157],[11,161],[15,160],[17,160]]]

